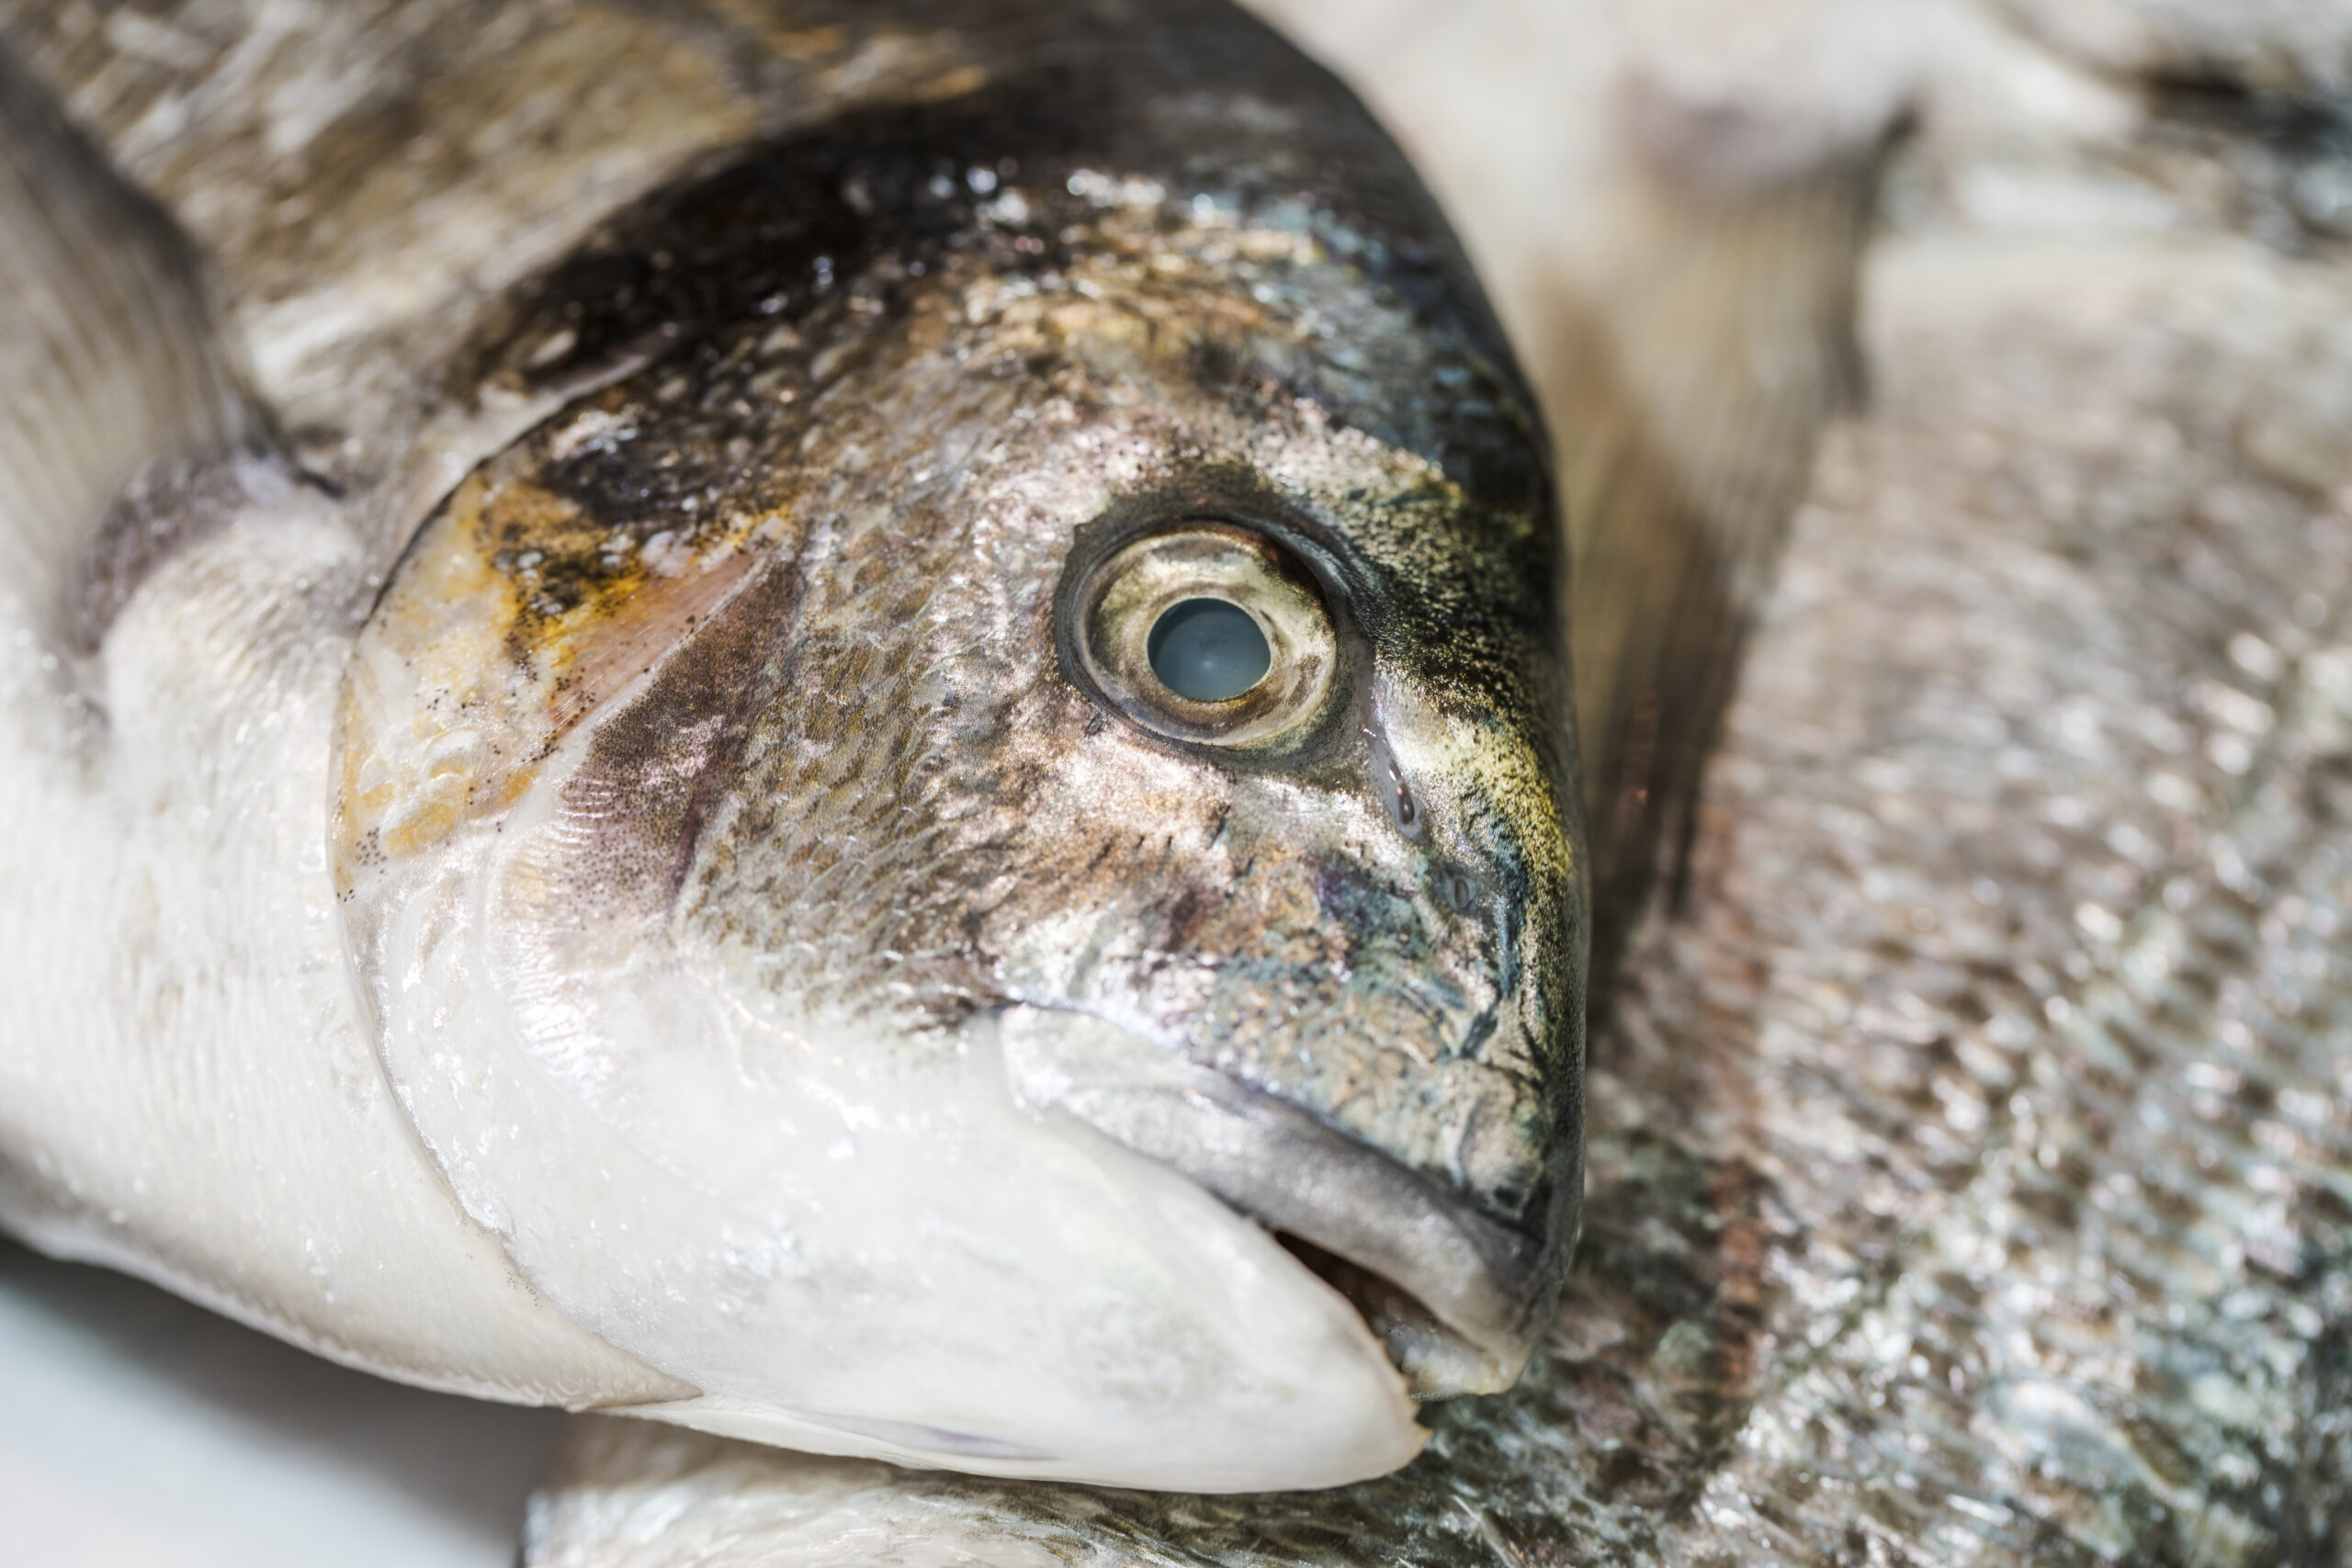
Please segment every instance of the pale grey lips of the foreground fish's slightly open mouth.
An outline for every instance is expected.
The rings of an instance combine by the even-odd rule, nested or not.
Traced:
[[[1338,1291],[1414,1399],[1519,1380],[1559,1300],[1559,1251],[1237,1079],[1063,1009],[1002,1016],[1014,1093],[1063,1110],[1249,1215]]]

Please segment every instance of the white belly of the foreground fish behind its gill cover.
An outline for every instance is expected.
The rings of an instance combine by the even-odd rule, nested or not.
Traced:
[[[113,625],[96,722],[7,607],[0,1225],[430,1387],[682,1396],[532,1295],[367,1044],[325,860],[360,576],[301,491],[249,512]]]

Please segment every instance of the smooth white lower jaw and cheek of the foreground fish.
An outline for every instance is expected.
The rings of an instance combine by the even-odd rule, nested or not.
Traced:
[[[534,1009],[496,903],[532,893],[546,827],[524,811],[492,835],[508,875],[388,914],[379,950],[433,1006],[395,1006],[383,1051],[532,1288],[699,1389],[633,1413],[1176,1490],[1338,1486],[1421,1450],[1357,1314],[1185,1175],[1021,1107],[988,1016],[877,1070],[854,1025],[755,1018],[724,976],[642,954],[604,1001]]]

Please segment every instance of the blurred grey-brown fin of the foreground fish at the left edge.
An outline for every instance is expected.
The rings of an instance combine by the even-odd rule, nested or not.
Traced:
[[[0,581],[71,639],[75,557],[113,498],[263,435],[188,240],[0,47]]]

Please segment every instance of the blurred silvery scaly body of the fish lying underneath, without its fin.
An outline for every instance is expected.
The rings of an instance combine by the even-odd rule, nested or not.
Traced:
[[[1955,31],[1865,268],[1872,400],[1795,520],[1684,912],[1592,1039],[1585,1244],[1522,1385],[1397,1476],[1251,1500],[583,1420],[527,1561],[842,1561],[854,1528],[915,1561],[2345,1561],[2352,270],[2265,197],[2331,153],[2251,134],[2260,38],[2126,56],[2244,89],[2216,120],[1922,14]]]

